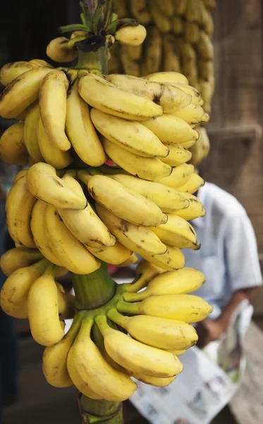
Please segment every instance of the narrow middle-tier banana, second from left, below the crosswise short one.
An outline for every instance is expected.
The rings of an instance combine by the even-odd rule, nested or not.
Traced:
[[[35,244],[44,257],[49,259],[49,261],[51,261],[53,264],[62,266],[61,261],[59,261],[54,252],[52,252],[49,239],[47,237],[47,228],[45,223],[46,209],[47,204],[44,203],[44,201],[36,201],[35,206],[32,208],[30,228],[35,240]]]

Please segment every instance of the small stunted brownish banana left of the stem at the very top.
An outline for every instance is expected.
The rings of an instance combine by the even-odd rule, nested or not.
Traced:
[[[47,56],[57,62],[69,62],[78,56],[78,52],[68,47],[68,38],[57,37],[47,45]]]

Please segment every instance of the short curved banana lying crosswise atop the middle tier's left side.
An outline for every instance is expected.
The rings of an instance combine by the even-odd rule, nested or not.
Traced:
[[[85,196],[75,194],[56,175],[55,168],[47,163],[32,165],[27,171],[26,181],[30,193],[56,208],[85,209],[87,206]]]

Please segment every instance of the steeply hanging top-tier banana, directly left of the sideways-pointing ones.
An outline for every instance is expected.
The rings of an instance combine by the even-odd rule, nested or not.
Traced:
[[[90,110],[78,93],[78,80],[68,92],[66,133],[79,158],[87,165],[99,166],[106,155],[90,119]]]

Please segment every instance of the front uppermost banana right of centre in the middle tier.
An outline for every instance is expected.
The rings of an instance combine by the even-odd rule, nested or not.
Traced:
[[[153,201],[114,179],[94,175],[87,188],[95,201],[129,223],[156,227],[167,221],[167,216]],[[128,204],[133,205],[133,208],[127,208]]]

